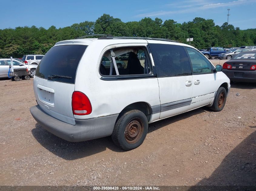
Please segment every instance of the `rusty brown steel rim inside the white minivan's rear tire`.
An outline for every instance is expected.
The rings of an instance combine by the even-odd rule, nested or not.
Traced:
[[[130,143],[136,143],[144,131],[144,125],[139,118],[134,118],[129,121],[125,127],[125,140]]]

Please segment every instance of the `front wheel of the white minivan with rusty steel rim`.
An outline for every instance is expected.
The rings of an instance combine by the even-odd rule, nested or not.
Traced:
[[[225,88],[220,87],[215,95],[212,106],[210,107],[213,111],[221,111],[227,100],[227,91]]]

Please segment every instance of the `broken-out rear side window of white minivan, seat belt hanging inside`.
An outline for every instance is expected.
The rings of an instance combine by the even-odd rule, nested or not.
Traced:
[[[122,47],[113,49],[119,75],[151,74],[152,67],[146,47]],[[112,72],[111,72],[112,68]],[[111,50],[104,53],[100,65],[101,75],[117,75]]]

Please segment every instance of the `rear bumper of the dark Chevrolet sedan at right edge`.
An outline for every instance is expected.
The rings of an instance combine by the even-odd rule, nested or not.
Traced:
[[[222,72],[228,76],[230,81],[256,82],[256,71],[226,70]]]

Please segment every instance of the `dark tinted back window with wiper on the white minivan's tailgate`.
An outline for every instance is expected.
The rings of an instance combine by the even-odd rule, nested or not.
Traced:
[[[78,63],[86,48],[86,45],[52,47],[40,61],[35,75],[52,81],[74,84]]]

